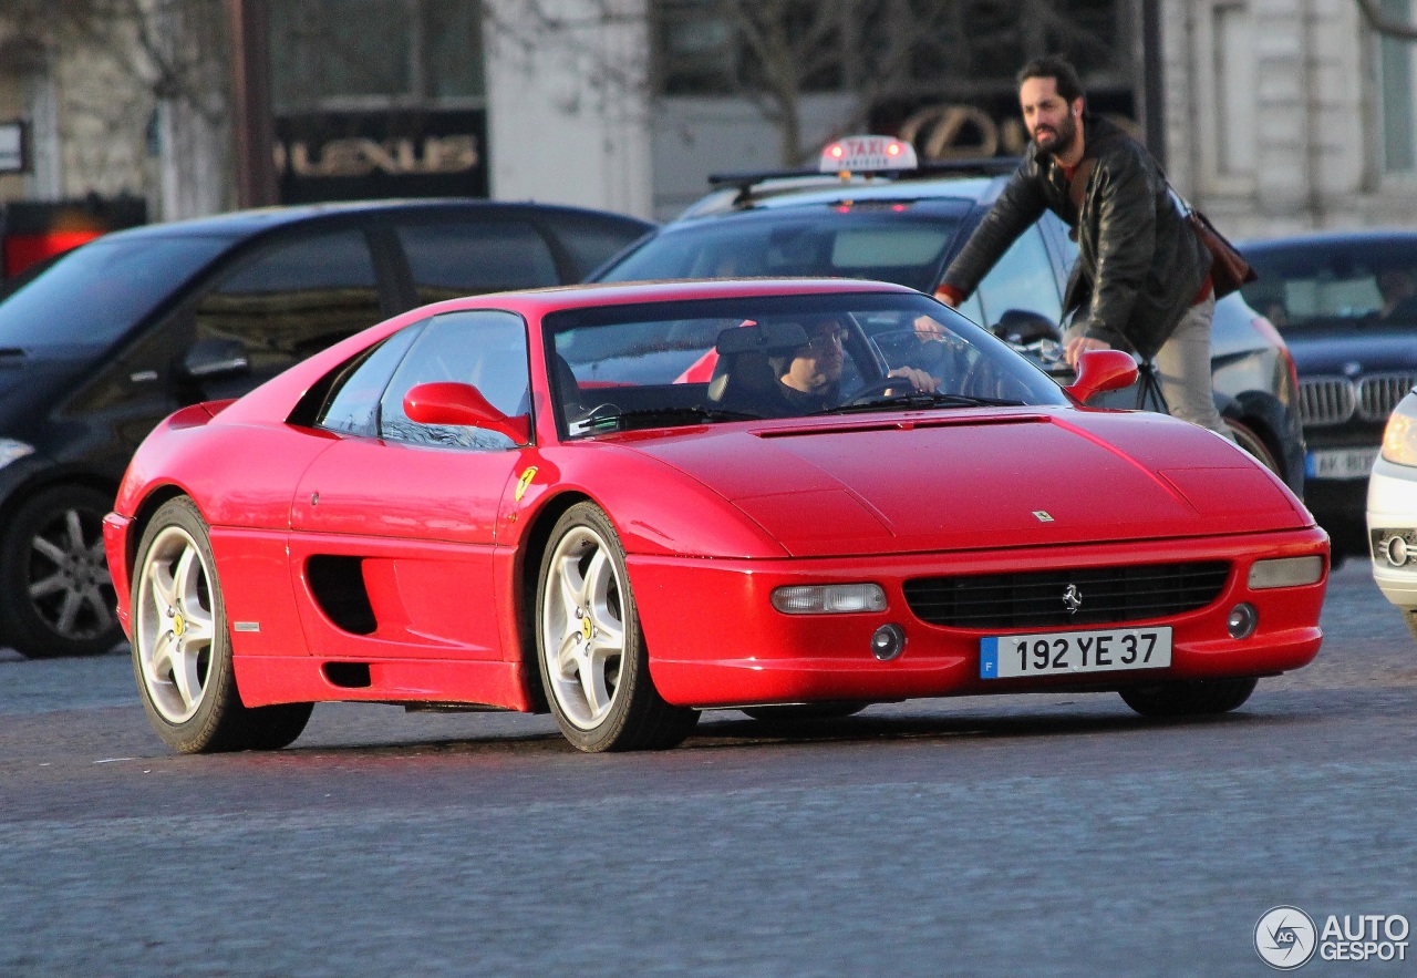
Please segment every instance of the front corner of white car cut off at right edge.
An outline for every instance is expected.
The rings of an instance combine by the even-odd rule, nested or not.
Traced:
[[[1373,580],[1417,638],[1417,390],[1387,420],[1367,480]]]

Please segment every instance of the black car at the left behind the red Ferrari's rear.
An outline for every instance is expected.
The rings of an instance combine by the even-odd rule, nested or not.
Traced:
[[[577,282],[652,230],[479,200],[268,208],[119,231],[0,302],[0,646],[120,638],[101,522],[173,410],[414,306]]]

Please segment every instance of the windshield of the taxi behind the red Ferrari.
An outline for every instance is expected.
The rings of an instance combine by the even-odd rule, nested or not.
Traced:
[[[666,227],[598,278],[830,276],[928,291],[959,220],[913,203],[832,204],[684,221]]]

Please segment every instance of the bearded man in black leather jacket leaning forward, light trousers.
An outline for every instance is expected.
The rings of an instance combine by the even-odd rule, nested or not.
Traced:
[[[1230,438],[1210,393],[1210,252],[1172,200],[1151,153],[1094,119],[1064,58],[1036,58],[1017,75],[1032,136],[999,200],[951,262],[935,295],[962,302],[1044,208],[1071,227],[1077,265],[1063,298],[1076,313],[1068,366],[1085,350],[1119,347],[1156,364],[1178,418]]]

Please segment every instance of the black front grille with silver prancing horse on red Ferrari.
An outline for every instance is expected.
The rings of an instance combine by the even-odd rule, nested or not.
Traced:
[[[952,628],[1050,628],[1165,618],[1204,608],[1230,577],[1230,564],[1087,567],[1080,570],[918,577],[905,581],[905,604],[921,621]],[[1068,585],[1081,607],[1068,614]]]

